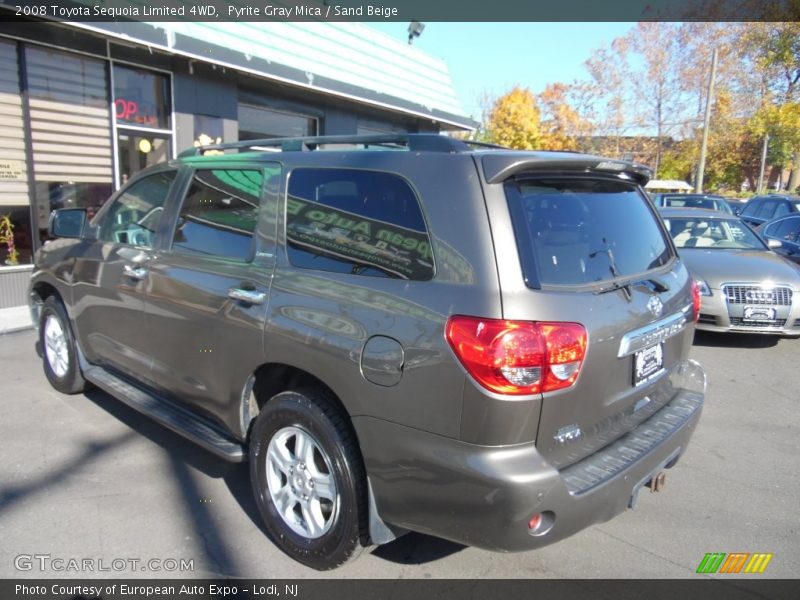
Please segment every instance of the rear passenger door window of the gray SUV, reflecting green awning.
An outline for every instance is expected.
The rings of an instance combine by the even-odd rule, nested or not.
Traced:
[[[178,216],[172,250],[251,259],[264,175],[250,169],[195,171]]]

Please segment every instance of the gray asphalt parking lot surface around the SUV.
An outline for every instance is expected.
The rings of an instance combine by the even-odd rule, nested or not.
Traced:
[[[102,392],[59,394],[34,338],[0,337],[0,577],[319,576],[263,534],[247,465],[214,458]],[[688,453],[663,492],[643,493],[609,523],[512,555],[412,533],[324,576],[701,577],[708,552],[765,552],[772,561],[754,577],[794,578],[798,356],[800,340],[698,333],[692,357],[709,389]],[[54,566],[69,559],[95,572]],[[181,561],[191,569],[180,572]]]

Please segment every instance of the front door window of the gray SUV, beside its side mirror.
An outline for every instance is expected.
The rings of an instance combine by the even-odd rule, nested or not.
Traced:
[[[128,186],[109,209],[95,219],[98,239],[152,248],[175,174],[175,171],[156,173]]]

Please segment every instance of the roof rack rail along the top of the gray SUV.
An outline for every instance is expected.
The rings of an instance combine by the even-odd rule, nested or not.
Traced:
[[[243,140],[227,144],[211,144],[197,148],[189,148],[180,153],[179,158],[202,156],[209,150],[258,150],[259,148],[283,152],[299,152],[317,150],[322,145],[360,144],[365,148],[377,146],[382,148],[408,148],[411,152],[468,152],[470,146],[491,146],[480,142],[465,142],[436,133],[400,133],[377,135],[328,135],[316,137],[268,138],[262,140]]]

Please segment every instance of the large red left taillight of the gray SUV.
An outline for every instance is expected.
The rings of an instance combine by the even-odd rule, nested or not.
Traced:
[[[486,389],[520,396],[575,383],[586,356],[578,323],[452,316],[445,336],[467,372]]]

